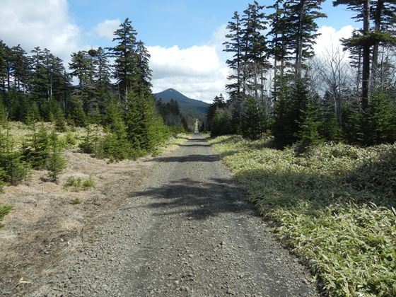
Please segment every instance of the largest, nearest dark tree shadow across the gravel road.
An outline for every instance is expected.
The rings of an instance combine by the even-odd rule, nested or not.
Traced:
[[[197,182],[190,178],[169,182],[143,192],[134,192],[134,197],[153,199],[148,207],[158,209],[158,216],[184,214],[188,219],[205,220],[222,213],[240,213],[251,210],[252,204],[243,199],[238,185],[233,180],[212,178],[209,182]]]

